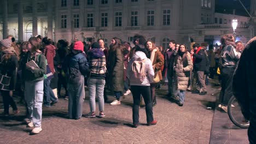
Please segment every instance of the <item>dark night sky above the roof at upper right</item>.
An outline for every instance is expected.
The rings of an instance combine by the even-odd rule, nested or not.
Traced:
[[[241,0],[250,13],[251,0]],[[236,9],[236,15],[249,16],[238,0],[216,0],[216,13],[232,14]]]

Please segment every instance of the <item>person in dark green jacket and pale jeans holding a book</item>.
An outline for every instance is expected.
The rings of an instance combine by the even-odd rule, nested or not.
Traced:
[[[42,104],[46,58],[43,52],[39,50],[41,45],[36,37],[31,37],[28,41],[32,47],[24,58],[26,65],[22,69],[22,79],[25,81],[25,100],[29,116],[27,127],[34,127],[31,134],[38,134],[42,131]],[[34,61],[37,67],[28,64],[31,61]]]

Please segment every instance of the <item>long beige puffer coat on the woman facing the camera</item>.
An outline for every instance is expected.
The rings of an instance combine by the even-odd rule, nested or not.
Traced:
[[[193,69],[190,53],[186,52],[183,56],[177,55],[173,64],[178,90],[187,91],[190,71]]]

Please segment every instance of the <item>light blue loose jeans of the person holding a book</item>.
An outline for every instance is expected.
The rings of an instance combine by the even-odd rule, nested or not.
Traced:
[[[34,123],[34,127],[41,127],[43,97],[43,80],[25,81],[25,100],[27,103],[28,117]]]

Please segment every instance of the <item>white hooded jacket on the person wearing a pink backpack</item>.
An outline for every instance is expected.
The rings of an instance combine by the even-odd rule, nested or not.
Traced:
[[[136,51],[134,53],[134,55],[132,56],[132,58],[131,58],[131,60],[128,64],[128,67],[127,67],[127,77],[128,77],[128,79],[130,79],[130,77],[132,75],[131,74],[132,63],[133,63],[133,61],[135,61],[135,59],[138,59],[138,58],[145,59],[145,58],[147,58],[147,56],[142,51]],[[152,62],[150,61],[150,59],[148,59],[145,62],[145,72],[147,74],[147,77],[144,79],[144,81],[142,83],[130,83],[130,85],[131,86],[150,86],[150,83],[153,82],[153,79],[154,79],[154,76],[155,76],[153,66],[152,66]]]

